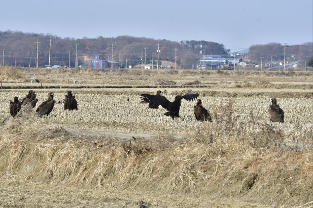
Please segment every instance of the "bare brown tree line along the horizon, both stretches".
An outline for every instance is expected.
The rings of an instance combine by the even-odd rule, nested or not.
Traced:
[[[61,38],[52,34],[23,33],[20,31],[0,31],[0,50],[4,51],[4,62],[6,65],[17,65],[22,67],[34,67],[36,65],[38,40],[38,66],[43,67],[49,62],[49,42],[51,39],[50,65],[75,66],[76,43],[78,54],[78,65],[88,63],[95,54],[100,59],[112,60],[112,45],[114,45],[114,60],[121,61],[124,65],[126,60],[129,65],[137,65],[152,62],[154,52],[154,64],[156,64],[158,40],[146,37],[117,36],[75,39],[71,37]],[[177,48],[177,64],[179,68],[196,67],[199,59],[199,51],[205,51],[205,55],[229,55],[229,50],[223,44],[205,40],[182,40],[180,42],[166,39],[160,40],[159,61],[175,62],[175,48]],[[147,49],[145,49],[147,47]],[[147,52],[145,54],[145,52]],[[279,43],[264,45],[252,45],[248,54],[243,56],[244,60],[260,63],[280,62],[284,60],[285,46]],[[245,56],[248,59],[245,59]],[[0,54],[2,57],[2,53]],[[147,57],[147,59],[146,59]],[[286,45],[286,61],[305,61],[313,57],[312,42],[302,45]],[[3,58],[3,57],[2,57]],[[69,61],[70,60],[70,61]],[[2,64],[2,60],[0,60]]]

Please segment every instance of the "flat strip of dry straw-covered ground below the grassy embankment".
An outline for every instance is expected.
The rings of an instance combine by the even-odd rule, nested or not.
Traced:
[[[234,199],[192,194],[47,184],[9,179],[0,186],[0,207],[265,207]]]

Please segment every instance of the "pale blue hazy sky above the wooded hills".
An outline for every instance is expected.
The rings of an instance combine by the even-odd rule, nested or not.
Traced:
[[[1,0],[0,30],[207,40],[239,50],[313,41],[312,0]]]

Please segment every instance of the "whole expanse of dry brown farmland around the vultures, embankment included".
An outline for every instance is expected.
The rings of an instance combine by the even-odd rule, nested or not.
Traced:
[[[0,207],[313,206],[312,72],[0,71]],[[10,117],[29,89],[39,104],[71,89],[79,110]],[[195,120],[195,101],[175,120],[140,104],[159,89],[199,93],[213,122]],[[271,97],[285,123],[269,121]]]

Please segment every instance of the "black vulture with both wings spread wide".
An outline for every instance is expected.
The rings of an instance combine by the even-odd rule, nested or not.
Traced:
[[[149,94],[141,94],[140,95],[140,98],[142,99],[142,101],[155,102],[155,103],[161,105],[166,110],[168,110],[163,115],[170,116],[172,119],[174,119],[175,117],[180,117],[179,110],[181,107],[181,100],[182,99],[185,99],[188,101],[193,101],[197,97],[199,97],[198,93],[187,94],[184,96],[178,95],[175,97],[175,100],[173,102],[170,102],[162,95],[149,95]]]

